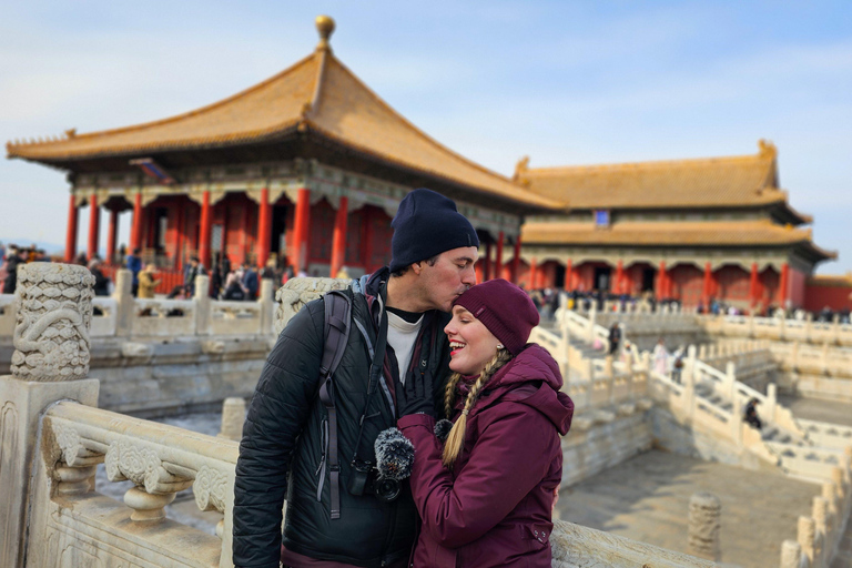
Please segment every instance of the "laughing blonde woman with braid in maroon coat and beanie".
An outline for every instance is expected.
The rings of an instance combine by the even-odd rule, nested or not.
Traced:
[[[398,420],[415,448],[410,487],[423,519],[416,568],[550,567],[559,435],[570,427],[574,404],[559,392],[550,354],[527,345],[538,320],[529,296],[505,280],[474,286],[454,303],[444,329],[454,371],[445,393],[449,437],[444,444],[436,436],[430,404],[414,405],[420,414]],[[426,396],[417,383],[406,381],[405,408]]]

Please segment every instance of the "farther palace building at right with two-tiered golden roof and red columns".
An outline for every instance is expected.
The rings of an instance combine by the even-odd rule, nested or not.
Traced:
[[[778,152],[754,155],[530,169],[515,181],[571,205],[521,232],[521,280],[535,287],[655,294],[688,305],[802,306],[816,246],[809,215],[780,189]],[[531,273],[531,274],[530,274]]]

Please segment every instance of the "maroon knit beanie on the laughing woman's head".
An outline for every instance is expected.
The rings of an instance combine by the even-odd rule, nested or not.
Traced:
[[[501,278],[468,288],[453,305],[474,314],[513,355],[520,353],[538,325],[538,310],[527,293]]]

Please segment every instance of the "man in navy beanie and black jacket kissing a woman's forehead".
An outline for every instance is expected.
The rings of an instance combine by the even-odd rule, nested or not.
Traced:
[[[395,499],[375,483],[374,443],[395,426],[399,405],[406,404],[395,393],[406,381],[434,379],[435,408],[442,414],[449,361],[446,312],[476,283],[479,241],[453,201],[424,189],[406,195],[392,226],[390,265],[366,280],[363,293],[345,291],[352,298],[352,325],[333,376],[336,436],[317,396],[322,300],[291,320],[266,359],[236,465],[237,567],[407,564],[417,510],[407,483]],[[336,440],[335,455],[329,439]],[[334,456],[337,484],[329,465]]]

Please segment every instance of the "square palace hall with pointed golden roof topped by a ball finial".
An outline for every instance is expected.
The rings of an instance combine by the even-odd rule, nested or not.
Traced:
[[[524,215],[564,211],[434,141],[334,57],[331,18],[316,50],[229,99],[164,120],[7,145],[69,172],[65,260],[77,252],[80,209],[88,255],[109,212],[108,258],[119,213],[132,209],[130,248],[180,271],[192,255],[264,265],[274,256],[311,275],[372,272],[390,260],[390,220],[426,186],[456,201],[480,234],[480,277],[503,273],[520,246]],[[510,272],[517,267],[509,265]]]

